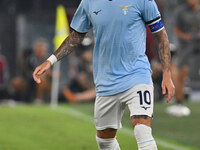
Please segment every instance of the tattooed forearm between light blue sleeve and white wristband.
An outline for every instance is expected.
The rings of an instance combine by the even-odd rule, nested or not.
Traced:
[[[64,56],[69,55],[73,50],[75,50],[78,45],[81,44],[85,33],[78,33],[72,30],[70,35],[63,41],[60,47],[54,52],[54,55],[58,60],[62,59]]]

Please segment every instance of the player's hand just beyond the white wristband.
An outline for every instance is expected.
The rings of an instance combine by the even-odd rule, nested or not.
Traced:
[[[33,72],[33,79],[35,80],[36,83],[41,83],[40,77],[51,67],[51,62],[50,61],[45,61],[42,63],[40,66],[35,68]]]

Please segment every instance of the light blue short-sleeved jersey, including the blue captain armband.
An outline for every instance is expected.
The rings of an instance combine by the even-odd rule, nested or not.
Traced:
[[[152,32],[163,28],[154,0],[81,1],[71,27],[81,33],[93,28],[93,72],[98,96],[152,84],[145,54],[146,24],[151,25]]]

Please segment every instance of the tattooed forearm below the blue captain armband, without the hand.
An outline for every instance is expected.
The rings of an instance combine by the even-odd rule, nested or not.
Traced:
[[[156,47],[159,51],[160,60],[163,66],[163,71],[170,71],[171,54],[170,45],[167,37],[166,30],[163,29],[160,32],[154,34],[156,38]]]

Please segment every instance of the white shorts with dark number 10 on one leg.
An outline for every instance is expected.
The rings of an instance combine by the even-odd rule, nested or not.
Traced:
[[[129,107],[130,116],[147,115],[152,117],[153,103],[153,85],[148,84],[139,84],[112,96],[97,96],[94,110],[96,129],[120,129],[126,105]]]

